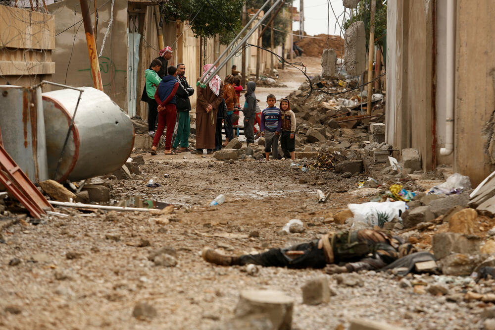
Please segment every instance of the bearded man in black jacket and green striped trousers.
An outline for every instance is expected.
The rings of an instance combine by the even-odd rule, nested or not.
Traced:
[[[189,86],[185,73],[186,65],[177,64],[177,80],[179,80],[179,88],[175,95],[177,99],[177,134],[174,135],[172,141],[172,150],[176,152],[188,151],[189,134],[191,133],[191,118],[189,117],[191,101],[189,97],[194,94],[194,88]],[[181,149],[177,150],[179,144]]]

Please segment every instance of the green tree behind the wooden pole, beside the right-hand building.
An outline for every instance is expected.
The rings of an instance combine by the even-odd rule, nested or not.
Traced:
[[[373,0],[371,0],[373,1]],[[363,21],[365,24],[366,35],[370,34],[370,21],[371,21],[371,1],[360,0],[357,4],[357,9],[354,16],[346,20],[344,27],[347,29],[350,24],[356,21]],[[381,0],[376,1],[375,10],[375,39],[378,39],[377,43],[382,45],[382,38],[387,33],[387,4],[383,4]],[[353,9],[354,10],[354,9]],[[369,48],[369,38],[366,38],[366,48]]]

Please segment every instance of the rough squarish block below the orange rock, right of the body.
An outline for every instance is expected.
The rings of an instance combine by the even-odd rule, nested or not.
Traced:
[[[443,232],[433,235],[433,254],[437,260],[451,253],[479,253],[481,238],[474,235],[464,235],[454,232]]]

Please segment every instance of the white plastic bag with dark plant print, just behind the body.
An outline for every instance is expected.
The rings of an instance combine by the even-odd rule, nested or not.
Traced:
[[[383,227],[385,222],[399,219],[402,212],[406,210],[406,204],[403,201],[396,202],[368,202],[363,204],[348,204],[347,208],[354,215],[355,221],[365,222],[370,226]]]

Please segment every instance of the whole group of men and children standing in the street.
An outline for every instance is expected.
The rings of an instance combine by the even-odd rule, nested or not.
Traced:
[[[191,102],[194,94],[185,76],[186,66],[168,66],[172,58],[172,49],[167,46],[159,52],[159,56],[151,61],[145,71],[146,85],[142,101],[148,102],[148,134],[153,136],[151,154],[156,155],[156,149],[161,135],[166,127],[165,155],[175,155],[191,151],[192,154],[208,154],[225,147],[234,138],[234,126],[238,125],[239,110],[244,113],[244,134],[247,146],[266,131],[266,159],[268,160],[271,146],[274,148],[274,158],[277,158],[278,135],[287,157],[294,159],[294,131],[296,118],[290,110],[289,100],[281,101],[281,109],[275,108],[275,96],[267,98],[268,108],[261,111],[254,91],[256,84],[247,83],[246,101],[240,105],[240,95],[243,91],[241,80],[232,67],[232,74],[225,76],[222,81],[218,75],[210,78],[216,69],[212,64],[203,66],[203,81],[209,79],[204,88],[198,88],[196,102],[196,150],[189,149]],[[234,74],[236,76],[234,76]],[[278,111],[278,112],[277,112]],[[156,118],[158,125],[155,130]],[[260,131],[254,136],[254,124],[258,123]],[[222,144],[222,125],[225,133],[225,143]],[[277,126],[277,127],[275,127]],[[285,142],[285,143],[284,143]],[[277,146],[276,146],[277,144]],[[180,146],[180,148],[179,148]],[[268,146],[268,148],[266,147]]]

